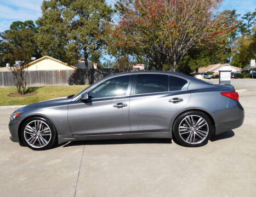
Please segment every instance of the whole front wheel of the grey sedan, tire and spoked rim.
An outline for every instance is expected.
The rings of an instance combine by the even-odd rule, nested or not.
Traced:
[[[56,143],[57,132],[48,119],[32,117],[22,125],[21,138],[23,143],[33,150],[46,150]]]

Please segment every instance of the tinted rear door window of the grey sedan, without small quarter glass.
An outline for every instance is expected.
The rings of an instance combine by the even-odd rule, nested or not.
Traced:
[[[135,94],[168,91],[166,74],[137,74]]]

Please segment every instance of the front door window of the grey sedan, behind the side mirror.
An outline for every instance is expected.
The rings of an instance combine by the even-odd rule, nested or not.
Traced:
[[[130,76],[121,76],[105,80],[90,91],[93,99],[113,96],[126,96]]]

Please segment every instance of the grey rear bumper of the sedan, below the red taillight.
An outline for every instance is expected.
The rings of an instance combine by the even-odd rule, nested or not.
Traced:
[[[216,135],[240,127],[244,120],[244,109],[240,102],[230,99],[227,108],[221,112],[218,119],[215,130]]]

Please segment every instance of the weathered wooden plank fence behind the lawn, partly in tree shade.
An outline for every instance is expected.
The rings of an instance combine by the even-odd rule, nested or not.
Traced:
[[[97,80],[117,73],[117,69],[89,69],[88,76],[90,84]],[[64,70],[64,71],[27,71],[27,86],[54,86],[54,85],[84,85],[86,81],[83,69]],[[0,72],[0,87],[15,86],[12,72]]]

